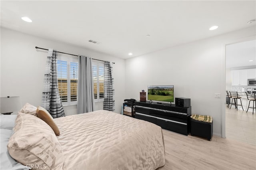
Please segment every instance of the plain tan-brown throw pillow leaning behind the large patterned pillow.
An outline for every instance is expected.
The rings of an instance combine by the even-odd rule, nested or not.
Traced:
[[[50,115],[50,113],[48,111],[46,111],[46,109],[44,109],[41,106],[37,107],[36,110],[36,114],[37,116],[42,119],[43,121],[45,121],[54,131],[54,133],[59,136],[60,135],[60,130],[58,128],[58,126],[56,125],[56,123],[54,122],[52,116]]]

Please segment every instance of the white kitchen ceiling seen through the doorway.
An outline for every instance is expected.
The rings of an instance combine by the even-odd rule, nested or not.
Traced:
[[[226,68],[250,65],[256,65],[256,40],[226,45]]]

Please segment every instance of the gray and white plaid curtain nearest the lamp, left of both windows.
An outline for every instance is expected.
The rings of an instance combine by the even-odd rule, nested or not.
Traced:
[[[65,116],[58,89],[57,53],[58,51],[49,48],[42,95],[42,107],[46,109],[53,118]]]

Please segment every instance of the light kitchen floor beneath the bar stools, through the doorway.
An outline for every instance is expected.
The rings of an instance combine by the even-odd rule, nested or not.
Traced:
[[[226,108],[226,138],[256,145],[256,113]]]

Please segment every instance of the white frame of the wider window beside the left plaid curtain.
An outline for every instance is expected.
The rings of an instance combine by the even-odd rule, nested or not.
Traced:
[[[78,57],[72,57],[72,56],[58,56],[57,60],[67,61],[67,99],[68,101],[62,101],[63,106],[70,106],[70,105],[77,105],[78,101],[78,84],[77,84],[77,91],[76,91],[76,101],[71,101],[71,79],[70,79],[70,63],[75,62],[78,63]],[[79,66],[78,66],[79,67]],[[58,74],[58,70],[57,70]],[[58,78],[58,77],[57,77]],[[77,70],[77,79],[78,79],[78,70]],[[79,79],[78,79],[79,81]]]

